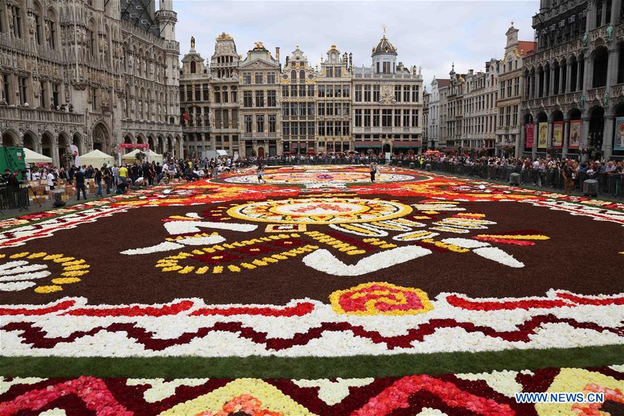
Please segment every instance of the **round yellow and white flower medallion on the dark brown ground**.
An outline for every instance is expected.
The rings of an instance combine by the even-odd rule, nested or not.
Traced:
[[[263,223],[341,224],[390,220],[411,211],[409,205],[384,200],[304,198],[249,202],[228,209],[227,214]]]

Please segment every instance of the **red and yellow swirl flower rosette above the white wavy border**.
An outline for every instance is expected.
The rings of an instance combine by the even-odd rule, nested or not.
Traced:
[[[336,313],[349,315],[413,315],[431,311],[427,294],[386,282],[364,283],[329,296]]]

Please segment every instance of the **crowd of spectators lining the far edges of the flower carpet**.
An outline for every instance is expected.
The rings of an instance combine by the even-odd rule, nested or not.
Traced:
[[[392,162],[414,163],[417,168],[424,168],[427,163],[447,163],[463,166],[500,166],[517,168],[520,171],[556,171],[560,172],[566,191],[571,191],[573,180],[580,173],[584,175],[621,175],[624,172],[622,161],[589,160],[579,162],[578,159],[560,159],[555,157],[474,157],[470,155],[447,155],[432,152],[422,155],[402,154],[393,155]],[[308,155],[272,155],[266,157],[233,157],[219,156],[213,159],[187,157],[184,159],[168,158],[160,162],[136,161],[130,164],[104,164],[101,167],[92,165],[31,168],[28,179],[45,180],[50,189],[55,189],[58,179],[67,180],[76,187],[77,199],[80,196],[87,198],[85,183],[93,179],[96,185],[96,196],[103,196],[103,192],[110,195],[126,193],[130,189],[146,187],[161,182],[168,182],[174,178],[193,181],[202,178],[218,178],[221,173],[233,173],[241,168],[257,166],[258,182],[264,183],[263,173],[267,165],[277,164],[365,164],[370,167],[371,181],[375,181],[379,164],[386,162],[385,157],[373,153],[320,153]],[[569,189],[570,188],[570,189]]]

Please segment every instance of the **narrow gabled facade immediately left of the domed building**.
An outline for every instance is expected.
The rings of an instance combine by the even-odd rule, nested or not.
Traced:
[[[352,150],[351,80],[353,68],[349,55],[340,55],[331,45],[327,58],[321,59],[316,77],[317,144],[308,146],[319,152],[348,152]]]

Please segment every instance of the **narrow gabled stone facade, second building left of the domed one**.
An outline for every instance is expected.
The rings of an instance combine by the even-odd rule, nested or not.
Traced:
[[[281,85],[281,152],[316,151],[316,73],[299,49],[286,57],[279,80]],[[320,106],[320,103],[319,103]]]

